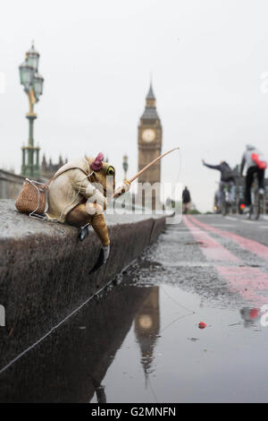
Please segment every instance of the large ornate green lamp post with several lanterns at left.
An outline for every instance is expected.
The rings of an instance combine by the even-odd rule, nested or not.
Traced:
[[[34,113],[34,105],[38,102],[40,95],[43,93],[44,78],[38,74],[39,53],[35,50],[34,43],[26,53],[25,61],[20,65],[21,85],[29,99],[29,113],[26,118],[29,120],[29,141],[27,146],[22,146],[22,166],[21,175],[39,177],[39,150],[35,147],[33,137],[33,125],[38,117]]]

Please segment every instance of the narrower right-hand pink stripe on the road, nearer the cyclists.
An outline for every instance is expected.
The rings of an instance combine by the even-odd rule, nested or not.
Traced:
[[[243,236],[239,236],[238,234],[231,233],[229,231],[223,231],[219,228],[211,227],[210,225],[205,224],[204,222],[200,222],[198,219],[193,217],[188,217],[192,222],[197,224],[201,228],[205,228],[208,231],[214,232],[215,234],[218,234],[219,236],[224,236],[226,238],[229,238],[233,240],[235,243],[240,245],[243,249],[254,253],[260,257],[262,257],[265,260],[268,260],[268,246],[267,245],[261,245],[257,241],[249,240],[248,238],[244,238]]]

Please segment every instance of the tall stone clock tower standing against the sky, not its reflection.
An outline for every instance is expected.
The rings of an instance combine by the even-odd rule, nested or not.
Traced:
[[[147,93],[146,107],[138,125],[138,171],[157,158],[161,154],[161,150],[162,125],[157,115],[155,94],[151,83]],[[147,169],[138,177],[138,183],[150,183],[151,185],[160,183],[160,166],[161,161],[158,161],[151,168]],[[153,192],[153,209],[155,209],[155,192]]]

